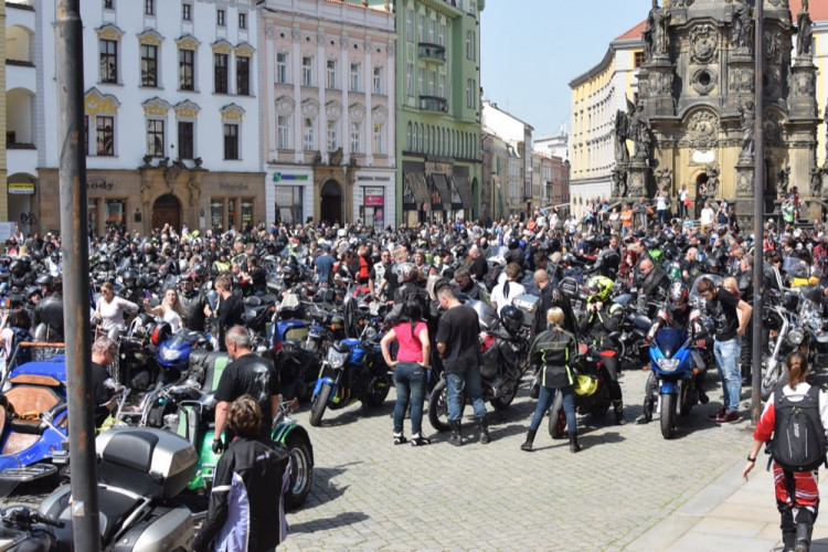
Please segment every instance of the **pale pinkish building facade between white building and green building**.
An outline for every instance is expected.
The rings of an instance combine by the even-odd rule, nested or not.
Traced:
[[[394,224],[394,14],[364,3],[262,6],[269,220]]]

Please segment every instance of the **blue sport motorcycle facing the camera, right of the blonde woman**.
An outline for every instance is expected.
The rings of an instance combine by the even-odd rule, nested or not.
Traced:
[[[693,354],[690,336],[681,328],[658,330],[650,344],[650,360],[657,379],[661,436],[669,439],[677,427],[676,416],[689,414],[699,404],[697,375],[703,367],[699,365],[700,357]]]

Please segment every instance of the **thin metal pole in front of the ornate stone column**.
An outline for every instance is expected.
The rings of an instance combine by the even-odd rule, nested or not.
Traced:
[[[762,85],[762,75],[764,73],[764,55],[763,55],[763,38],[765,34],[765,1],[756,1],[756,32],[755,36],[755,55],[756,55],[756,68],[755,68],[755,89],[756,99],[754,102],[756,110],[755,121],[756,127],[754,131],[754,144],[756,157],[754,159],[754,198],[753,204],[753,340],[752,340],[752,354],[753,365],[751,369],[751,422],[756,425],[760,416],[762,415],[762,284],[764,282],[763,275],[763,240],[762,240],[762,223],[764,217],[764,201],[765,201],[765,136],[764,128],[762,126],[762,115],[764,113],[764,95],[765,91]]]

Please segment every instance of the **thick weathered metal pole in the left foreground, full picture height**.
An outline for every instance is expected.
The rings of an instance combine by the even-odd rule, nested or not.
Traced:
[[[86,227],[84,65],[81,0],[57,1],[57,139],[61,148],[60,202],[63,251],[63,326],[66,343],[72,526],[74,549],[100,550],[95,422],[89,344],[89,252]]]

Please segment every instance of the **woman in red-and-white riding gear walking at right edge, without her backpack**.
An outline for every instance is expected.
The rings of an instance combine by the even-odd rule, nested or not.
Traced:
[[[808,361],[799,351],[793,352],[785,361],[785,370],[788,373],[788,384],[782,390],[772,394],[765,405],[765,411],[756,424],[753,432],[753,447],[747,455],[747,465],[745,465],[742,475],[747,480],[747,474],[756,465],[756,455],[758,455],[762,445],[771,440],[776,433],[776,411],[782,405],[775,404],[777,400],[785,403],[803,404],[803,408],[808,404],[818,407],[819,418],[821,421],[820,431],[828,427],[828,395],[818,388],[811,388],[805,378],[808,374]],[[777,397],[777,394],[779,395]],[[776,495],[776,508],[779,510],[782,522],[782,539],[785,543],[785,550],[806,551],[810,546],[810,531],[817,519],[819,510],[819,489],[817,488],[818,474],[813,471],[785,471],[774,463],[774,491]],[[793,492],[792,492],[793,491]],[[792,496],[793,495],[793,496]],[[797,510],[794,518],[794,510]]]

